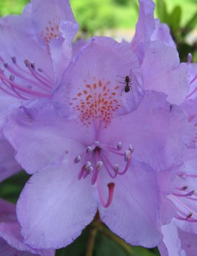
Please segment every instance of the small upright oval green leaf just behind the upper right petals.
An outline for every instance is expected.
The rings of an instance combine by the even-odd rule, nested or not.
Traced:
[[[169,28],[171,29],[172,33],[175,33],[178,28],[180,28],[180,20],[182,17],[182,9],[180,6],[175,6],[171,15],[169,16]]]

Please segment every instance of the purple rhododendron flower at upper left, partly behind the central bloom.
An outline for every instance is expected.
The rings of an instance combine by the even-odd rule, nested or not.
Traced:
[[[76,31],[77,24],[68,1],[33,0],[22,15],[0,19],[1,127],[10,106],[18,106],[29,99],[51,98],[59,60],[54,52],[61,49],[62,67],[67,67]],[[4,148],[0,155],[0,180],[3,180],[21,167],[3,136],[0,147]]]

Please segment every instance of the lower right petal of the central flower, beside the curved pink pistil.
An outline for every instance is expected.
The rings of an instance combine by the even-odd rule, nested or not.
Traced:
[[[154,171],[132,158],[129,171],[116,178],[113,202],[107,209],[100,205],[99,212],[101,220],[127,243],[154,247],[162,239],[158,207]]]

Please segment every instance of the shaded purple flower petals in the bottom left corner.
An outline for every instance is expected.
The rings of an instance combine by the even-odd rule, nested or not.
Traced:
[[[54,250],[36,250],[23,243],[15,205],[0,199],[0,255],[53,256]]]

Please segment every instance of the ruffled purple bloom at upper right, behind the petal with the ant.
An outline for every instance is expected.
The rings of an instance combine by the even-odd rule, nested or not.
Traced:
[[[139,19],[130,44],[139,58],[145,90],[168,95],[171,104],[184,102],[189,90],[189,67],[180,63],[166,24],[154,19],[152,0],[139,1]]]

